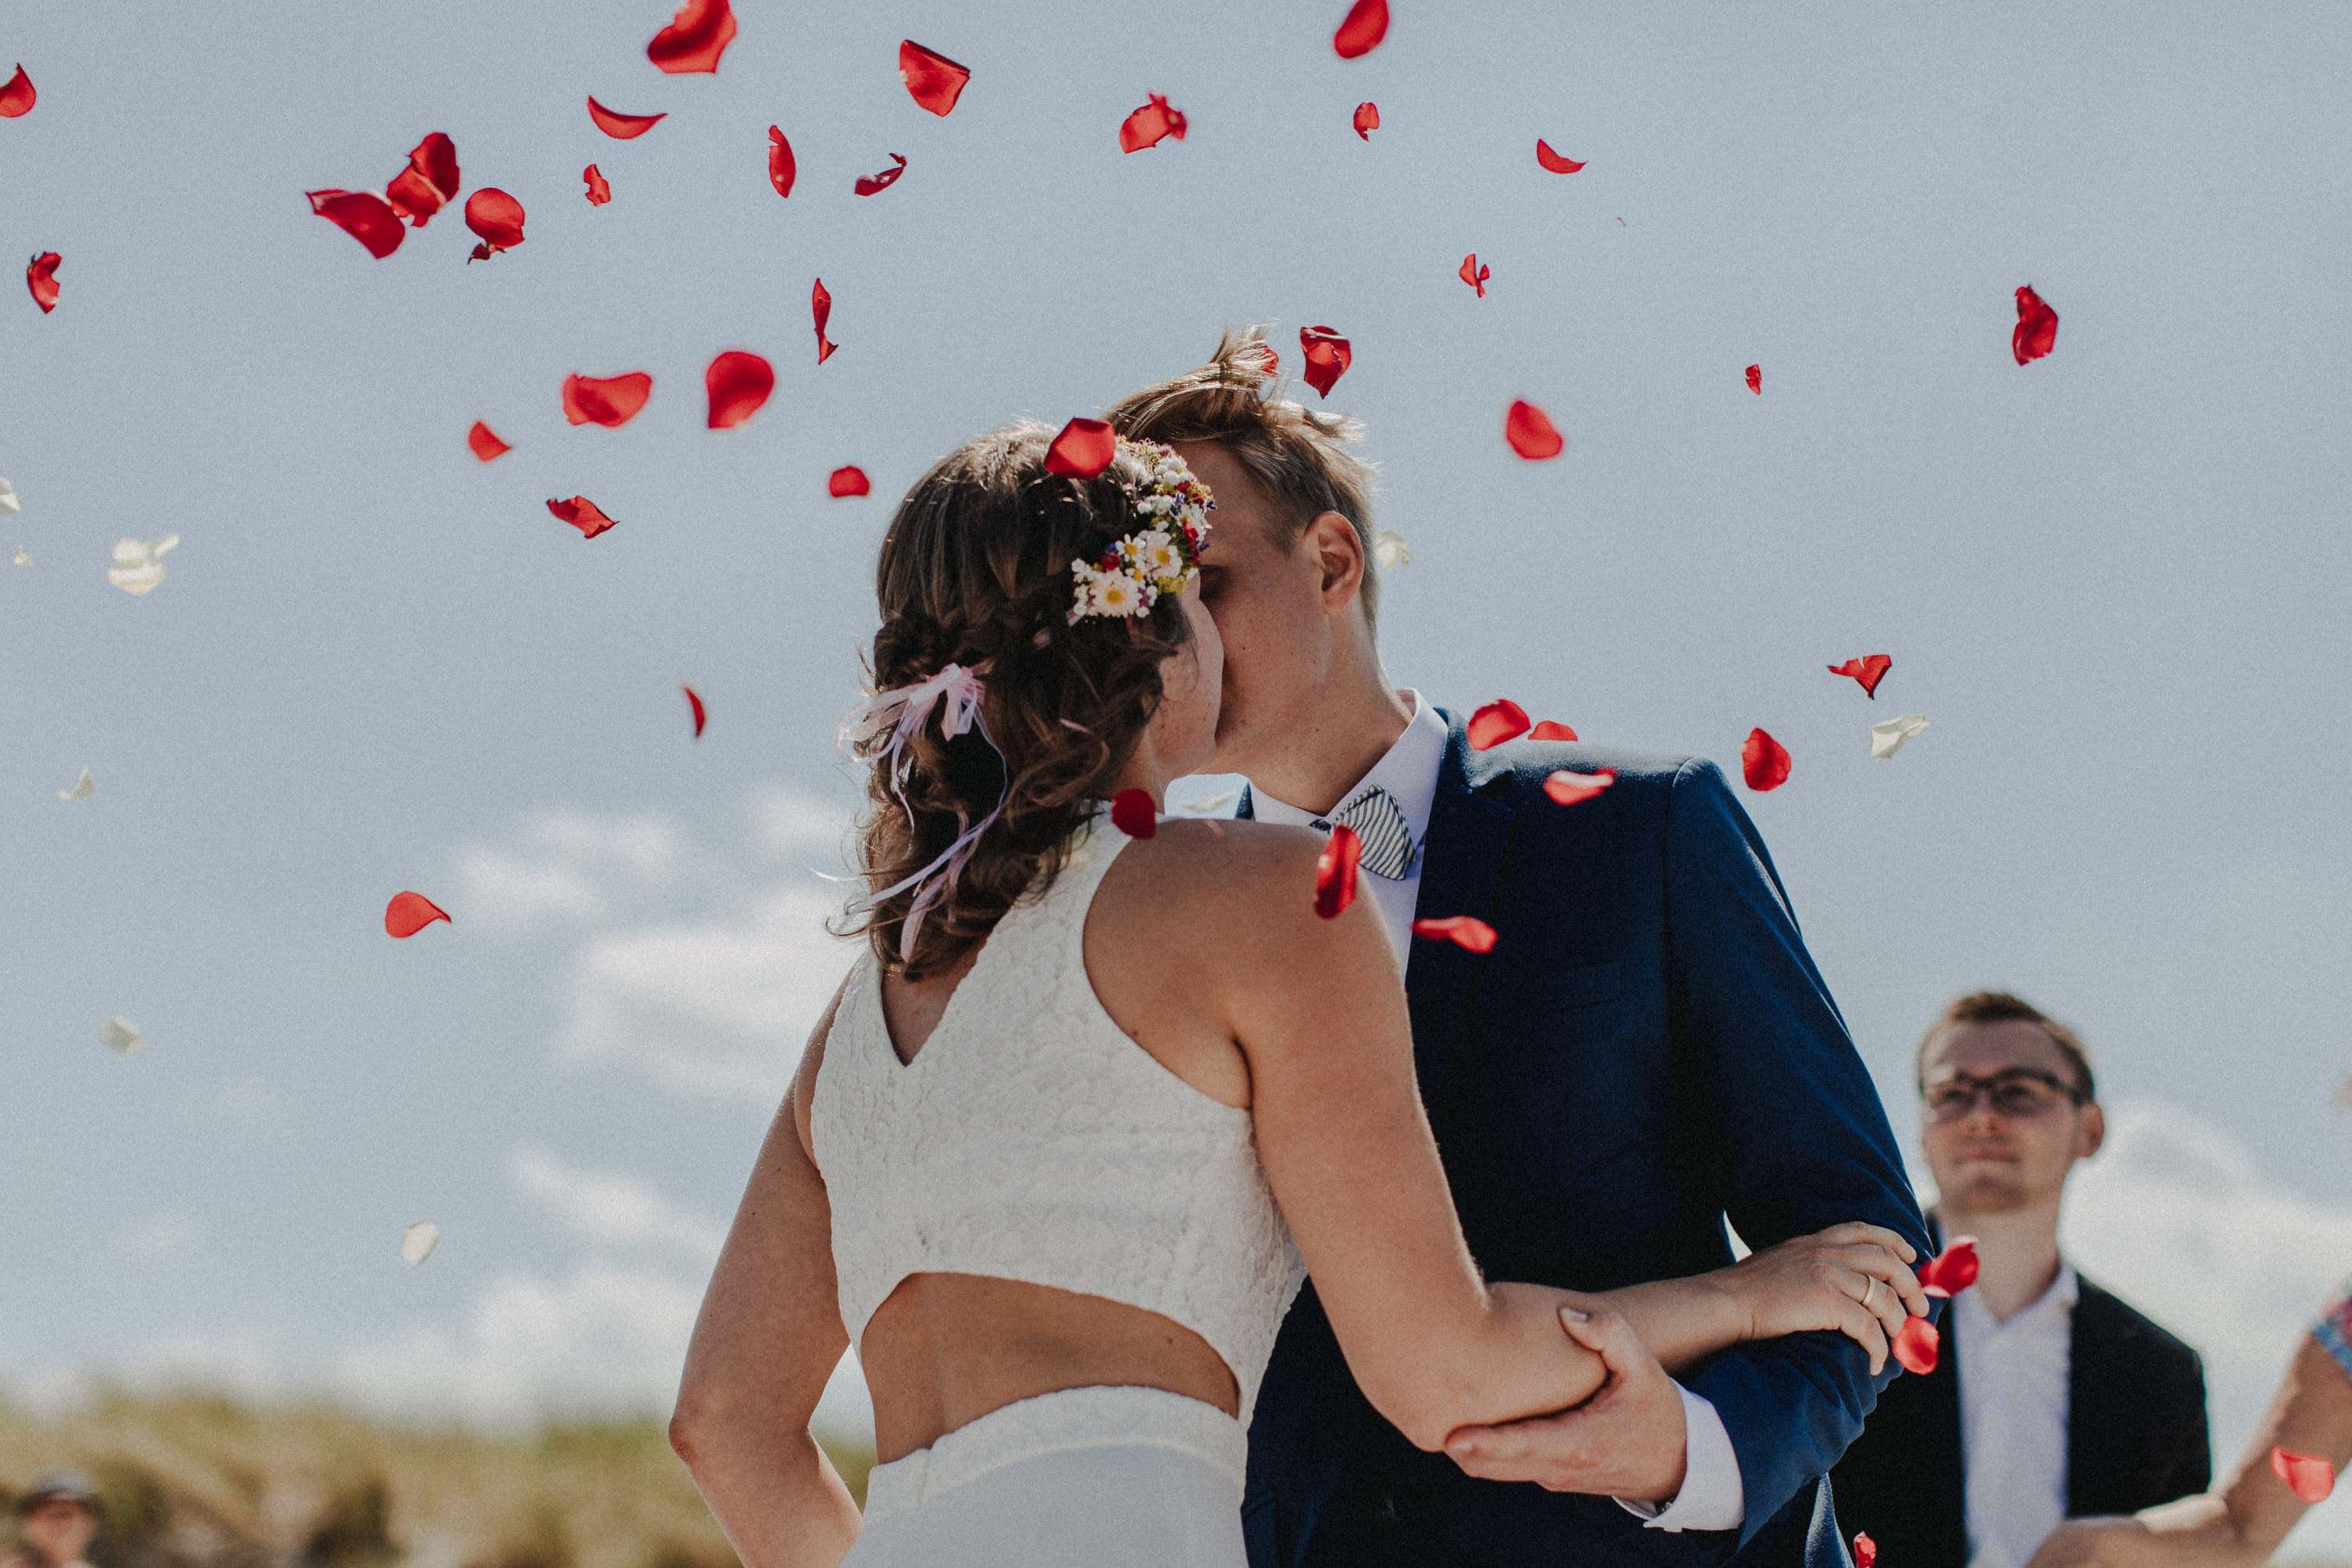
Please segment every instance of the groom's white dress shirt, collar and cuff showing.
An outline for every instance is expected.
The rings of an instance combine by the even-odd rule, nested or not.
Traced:
[[[1404,971],[1414,961],[1414,903],[1421,898],[1421,867],[1425,865],[1418,846],[1428,842],[1430,809],[1437,804],[1437,769],[1446,759],[1446,722],[1437,717],[1437,708],[1418,691],[1404,689],[1397,696],[1414,710],[1411,722],[1397,736],[1397,743],[1371,764],[1369,773],[1341,790],[1331,809],[1338,811],[1364,785],[1381,785],[1404,811],[1404,825],[1411,830],[1416,846],[1414,863],[1404,870],[1404,877],[1390,879],[1364,872],[1355,884],[1357,893],[1369,891],[1378,905],[1388,943],[1397,950],[1397,969]],[[1275,799],[1256,785],[1249,790],[1249,806],[1251,816],[1261,823],[1308,827],[1327,820],[1315,811]],[[1439,910],[1437,914],[1461,912]],[[1731,1450],[1731,1434],[1724,1432],[1724,1418],[1717,1415],[1715,1403],[1679,1382],[1675,1389],[1682,1394],[1686,1448],[1682,1490],[1670,1505],[1632,1497],[1618,1497],[1618,1502],[1646,1519],[1651,1530],[1736,1530],[1748,1519],[1748,1488],[1740,1483],[1740,1462]]]

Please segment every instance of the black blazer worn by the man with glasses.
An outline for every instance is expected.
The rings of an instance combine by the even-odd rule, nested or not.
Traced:
[[[1945,1319],[1950,1324],[1950,1316]],[[2131,1514],[2213,1481],[2197,1352],[2089,1279],[2074,1298],[2067,1373],[2065,1512]],[[1957,1335],[1926,1378],[1898,1378],[1837,1465],[1837,1514],[1879,1561],[1966,1568]]]

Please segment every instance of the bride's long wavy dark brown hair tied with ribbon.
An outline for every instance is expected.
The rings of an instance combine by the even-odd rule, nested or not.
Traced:
[[[953,966],[1014,900],[1051,882],[1160,705],[1160,661],[1192,639],[1174,595],[1143,616],[1068,623],[1070,562],[1145,527],[1127,491],[1145,473],[1122,451],[1094,480],[1049,475],[1051,437],[1023,421],[943,456],[898,503],[875,567],[873,689],[985,665],[988,733],[943,741],[934,717],[894,769],[875,766],[858,825],[868,889],[920,872],[1004,804],[955,886],[924,910],[910,959],[898,938],[915,889],[847,924],[868,933],[884,971],[910,980]]]

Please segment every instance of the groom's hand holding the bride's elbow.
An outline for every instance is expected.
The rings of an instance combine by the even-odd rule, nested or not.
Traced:
[[[1672,1502],[1689,1465],[1682,1392],[1616,1312],[1562,1307],[1559,1326],[1599,1354],[1609,1380],[1592,1399],[1503,1427],[1458,1427],[1446,1453],[1486,1481],[1534,1481],[1555,1493]]]

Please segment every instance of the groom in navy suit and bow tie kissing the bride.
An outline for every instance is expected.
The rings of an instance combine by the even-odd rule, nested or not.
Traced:
[[[1395,691],[1374,646],[1369,468],[1355,421],[1270,395],[1272,350],[1110,409],[1216,491],[1202,597],[1225,642],[1216,766],[1242,813],[1364,842],[1362,891],[1411,1004],[1421,1095],[1491,1279],[1609,1291],[1870,1220],[1929,1253],[1886,1112],[1755,827],[1698,757],[1512,741]],[[1616,769],[1559,806],[1555,769]],[[1303,896],[1303,893],[1301,893]],[[1491,952],[1414,940],[1475,914]],[[1639,1340],[1578,1410],[1423,1453],[1357,1392],[1312,1284],[1249,1432],[1251,1568],[1839,1561],[1820,1476],[1863,1429],[1844,1335],[1738,1345],[1677,1385]],[[1811,1540],[1809,1540],[1811,1537]]]

